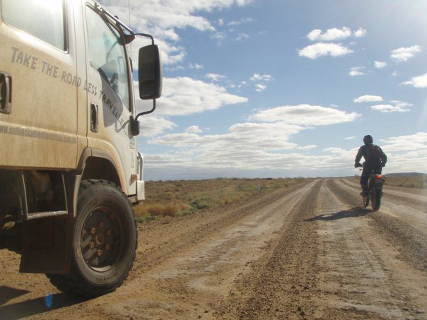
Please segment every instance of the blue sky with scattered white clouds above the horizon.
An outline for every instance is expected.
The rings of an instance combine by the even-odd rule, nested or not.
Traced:
[[[383,173],[427,172],[427,1],[100,3],[162,53],[145,180],[352,176],[366,134]]]

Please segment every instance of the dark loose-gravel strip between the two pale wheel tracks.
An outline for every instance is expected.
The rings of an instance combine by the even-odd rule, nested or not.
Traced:
[[[252,271],[235,281],[235,289],[216,308],[226,319],[284,319],[313,316],[317,309],[320,271],[317,263],[317,223],[307,223],[315,211],[321,181],[291,206],[280,237],[251,263]]]

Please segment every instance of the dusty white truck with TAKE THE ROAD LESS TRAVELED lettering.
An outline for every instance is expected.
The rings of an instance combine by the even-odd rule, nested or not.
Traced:
[[[129,44],[139,49],[136,114]],[[0,0],[0,249],[59,290],[115,290],[144,199],[138,117],[161,95],[153,37],[92,0]],[[136,76],[136,75],[135,75]]]

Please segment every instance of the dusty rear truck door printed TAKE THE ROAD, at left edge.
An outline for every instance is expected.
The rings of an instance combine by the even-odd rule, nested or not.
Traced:
[[[68,1],[0,1],[2,166],[76,167],[72,10]]]

